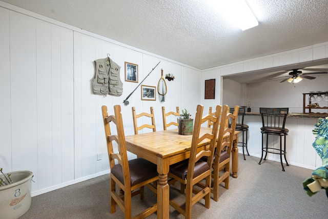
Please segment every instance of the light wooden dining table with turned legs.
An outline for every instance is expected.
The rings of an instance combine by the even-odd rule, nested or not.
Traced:
[[[200,128],[200,135],[208,131]],[[232,148],[232,173],[237,178],[238,172],[238,135],[235,131]],[[225,137],[228,137],[225,136]],[[157,165],[159,176],[157,184],[157,218],[169,218],[169,184],[170,165],[186,160],[190,156],[192,135],[180,135],[178,129],[149,132],[126,136],[127,150]],[[209,146],[209,140],[198,145],[197,153]]]

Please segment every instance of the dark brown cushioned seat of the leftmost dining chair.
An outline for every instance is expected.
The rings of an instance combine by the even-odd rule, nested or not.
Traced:
[[[152,177],[158,175],[157,166],[144,158],[136,158],[129,161],[129,169],[131,176],[131,186],[147,181]],[[124,185],[124,176],[122,172],[122,166],[117,164],[111,171],[119,182]]]

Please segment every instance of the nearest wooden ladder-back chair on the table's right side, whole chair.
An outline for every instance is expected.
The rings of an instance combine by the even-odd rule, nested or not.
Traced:
[[[181,185],[186,185],[186,204],[180,205],[174,200],[170,200],[170,205],[183,214],[185,218],[191,218],[192,206],[202,198],[205,199],[205,207],[210,208],[212,163],[220,111],[221,106],[217,106],[215,116],[209,114],[202,116],[203,106],[197,106],[189,160],[170,166],[169,177],[179,181]],[[208,122],[208,120],[214,122],[213,128],[200,136],[201,124]],[[209,149],[197,152],[198,144],[206,138],[210,140]],[[200,159],[203,156],[207,157],[207,161]],[[206,181],[204,188],[200,188],[198,185],[202,180]]]

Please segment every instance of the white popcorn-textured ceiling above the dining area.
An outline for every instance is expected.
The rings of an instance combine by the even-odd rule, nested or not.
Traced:
[[[246,0],[245,31],[213,0],[2,1],[201,70],[328,41],[327,0]]]

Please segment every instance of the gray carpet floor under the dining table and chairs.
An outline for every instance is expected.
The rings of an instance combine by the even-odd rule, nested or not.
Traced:
[[[211,199],[211,208],[201,200],[192,209],[193,218],[328,218],[328,198],[321,189],[310,197],[302,182],[311,177],[312,170],[285,166],[239,154],[238,178],[230,176],[230,189],[221,184],[219,201]],[[183,203],[179,184],[170,187],[170,198]],[[116,207],[110,214],[109,174],[32,197],[30,210],[24,218],[124,218]],[[132,198],[132,215],[156,203],[155,195],[145,188],[144,200]],[[148,218],[156,218],[156,213]],[[170,207],[170,218],[184,218]]]

